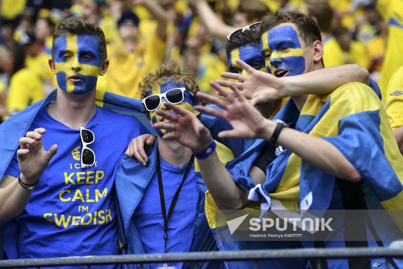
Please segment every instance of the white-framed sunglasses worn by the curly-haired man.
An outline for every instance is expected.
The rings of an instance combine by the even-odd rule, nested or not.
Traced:
[[[145,109],[147,109],[148,111],[151,112],[151,111],[158,109],[158,107],[160,107],[162,97],[164,97],[165,100],[171,104],[181,103],[183,101],[183,99],[185,98],[183,96],[183,92],[185,92],[185,91],[187,93],[189,93],[189,95],[191,97],[196,98],[195,95],[193,94],[193,92],[191,92],[190,90],[187,90],[186,88],[174,88],[174,89],[167,90],[164,93],[160,93],[158,95],[147,96],[143,100],[141,100],[141,102],[144,104]]]

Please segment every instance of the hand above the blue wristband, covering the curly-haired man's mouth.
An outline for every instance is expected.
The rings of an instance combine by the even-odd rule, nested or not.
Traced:
[[[177,115],[160,109],[156,111],[157,115],[174,122],[154,124],[155,128],[173,130],[173,132],[165,134],[162,139],[175,139],[195,152],[201,152],[210,145],[210,131],[199,121],[194,113],[183,109],[179,105],[166,102],[164,105],[176,112]]]

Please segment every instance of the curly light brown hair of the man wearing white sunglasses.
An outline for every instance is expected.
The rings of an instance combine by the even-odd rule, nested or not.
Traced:
[[[154,87],[162,86],[168,83],[183,83],[188,90],[196,95],[199,91],[199,85],[195,78],[191,75],[181,71],[181,66],[178,63],[171,63],[169,65],[160,65],[155,73],[148,73],[147,76],[139,83],[140,99],[143,100],[147,97],[148,93],[152,91]],[[172,84],[174,86],[174,84]],[[207,101],[199,100],[202,105],[206,105]]]

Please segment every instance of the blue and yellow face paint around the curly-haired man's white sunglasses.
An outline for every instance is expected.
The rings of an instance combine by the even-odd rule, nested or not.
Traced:
[[[164,93],[168,90],[174,89],[174,88],[186,88],[187,87],[182,84],[182,83],[175,83],[173,80],[171,80],[170,78],[168,78],[168,83],[162,85],[162,86],[157,86],[154,87],[153,90],[151,92],[148,93],[148,96],[150,95],[158,95],[161,93]],[[166,99],[164,97],[162,97],[162,102],[160,107],[158,107],[158,109],[162,109],[165,111],[168,111],[169,113],[173,113],[176,114],[174,111],[168,109],[167,107],[164,106],[164,102],[167,102]],[[194,113],[196,116],[199,115],[199,111],[195,111],[194,106],[197,104],[197,101],[195,99],[193,99],[193,97],[191,97],[191,95],[189,94],[189,92],[184,91],[183,92],[183,101],[177,105],[179,105],[180,107],[191,111],[192,113]],[[151,118],[151,125],[154,126],[154,124],[156,123],[162,123],[162,120],[164,119],[162,116],[158,116],[156,113],[156,110],[151,111],[150,112],[150,118]],[[165,129],[155,129],[158,133],[158,135],[160,137],[162,137],[163,135],[165,135],[167,132],[172,132],[170,130],[165,130]]]

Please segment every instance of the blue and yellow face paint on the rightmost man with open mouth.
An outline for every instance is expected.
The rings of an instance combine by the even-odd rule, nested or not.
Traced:
[[[301,48],[297,31],[291,25],[264,32],[260,38],[260,52],[267,70],[272,74],[278,69],[287,70],[287,76],[300,75],[305,71],[305,50]]]

